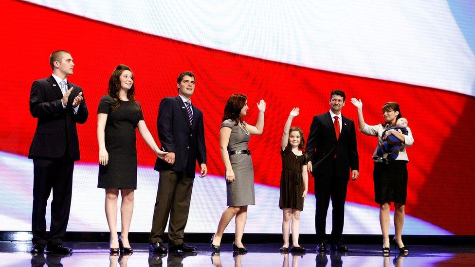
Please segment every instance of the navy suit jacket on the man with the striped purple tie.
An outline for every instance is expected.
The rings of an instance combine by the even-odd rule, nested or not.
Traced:
[[[195,177],[196,160],[206,164],[206,144],[204,142],[203,113],[193,108],[193,125],[180,96],[165,97],[158,109],[158,137],[165,151],[175,152],[175,163],[170,165],[157,158],[155,170],[186,171]]]

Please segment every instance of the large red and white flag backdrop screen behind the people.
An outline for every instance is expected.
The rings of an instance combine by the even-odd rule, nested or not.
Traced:
[[[473,1],[4,0],[2,7],[0,231],[31,229],[33,163],[27,155],[36,119],[29,113],[30,86],[51,74],[50,53],[66,49],[76,64],[68,80],[83,87],[90,112],[78,125],[81,160],[68,231],[108,231],[104,190],[96,187],[96,113],[112,70],[126,64],[157,142],[160,100],[177,94],[180,72],[196,74],[192,101],[204,114],[209,175],[195,179],[187,232],[215,231],[226,207],[219,125],[229,95],[248,96],[250,124],[256,123],[255,103],[267,102],[264,134],[250,142],[256,205],[249,207],[246,232],[279,233],[285,120],[300,107],[293,125],[307,137],[312,117],[329,110],[329,92],[343,89],[343,114],[352,120],[357,114],[349,98],[356,97],[369,124],[382,122],[387,101],[400,103],[409,121],[415,142],[407,149],[404,233],[475,234]],[[137,140],[131,231],[146,232],[159,174],[153,153]],[[371,160],[377,140],[357,131],[357,141],[360,178],[348,183],[344,233],[378,234]],[[303,233],[314,232],[314,207],[310,178]],[[327,231],[330,214],[331,205]],[[233,223],[227,231],[234,231]]]

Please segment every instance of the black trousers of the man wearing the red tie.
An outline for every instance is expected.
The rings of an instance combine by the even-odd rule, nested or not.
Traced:
[[[336,244],[341,242],[343,233],[343,222],[345,220],[345,200],[347,197],[347,178],[335,176],[336,164],[333,162],[333,172],[315,177],[315,232],[317,243],[326,241],[325,227],[327,223],[327,212],[330,204],[333,209],[331,214],[332,228],[329,242]]]

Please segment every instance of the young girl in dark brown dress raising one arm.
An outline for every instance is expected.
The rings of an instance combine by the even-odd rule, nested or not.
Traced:
[[[292,252],[304,252],[305,248],[298,244],[300,227],[300,212],[304,208],[307,196],[309,176],[307,173],[307,155],[302,152],[305,145],[302,129],[291,127],[293,117],[297,116],[299,108],[294,107],[284,126],[281,151],[282,174],[280,176],[279,208],[282,209],[282,235],[284,245],[281,252],[289,250],[289,235],[292,222]]]

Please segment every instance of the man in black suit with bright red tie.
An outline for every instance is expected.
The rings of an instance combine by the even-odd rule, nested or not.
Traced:
[[[355,124],[341,115],[345,98],[342,90],[331,91],[330,110],[313,117],[306,147],[309,155],[308,169],[315,179],[315,231],[317,250],[320,252],[327,250],[325,227],[330,196],[333,208],[330,248],[348,251],[341,244],[345,200],[349,170],[351,168],[352,180],[356,180],[359,176],[359,163]]]

